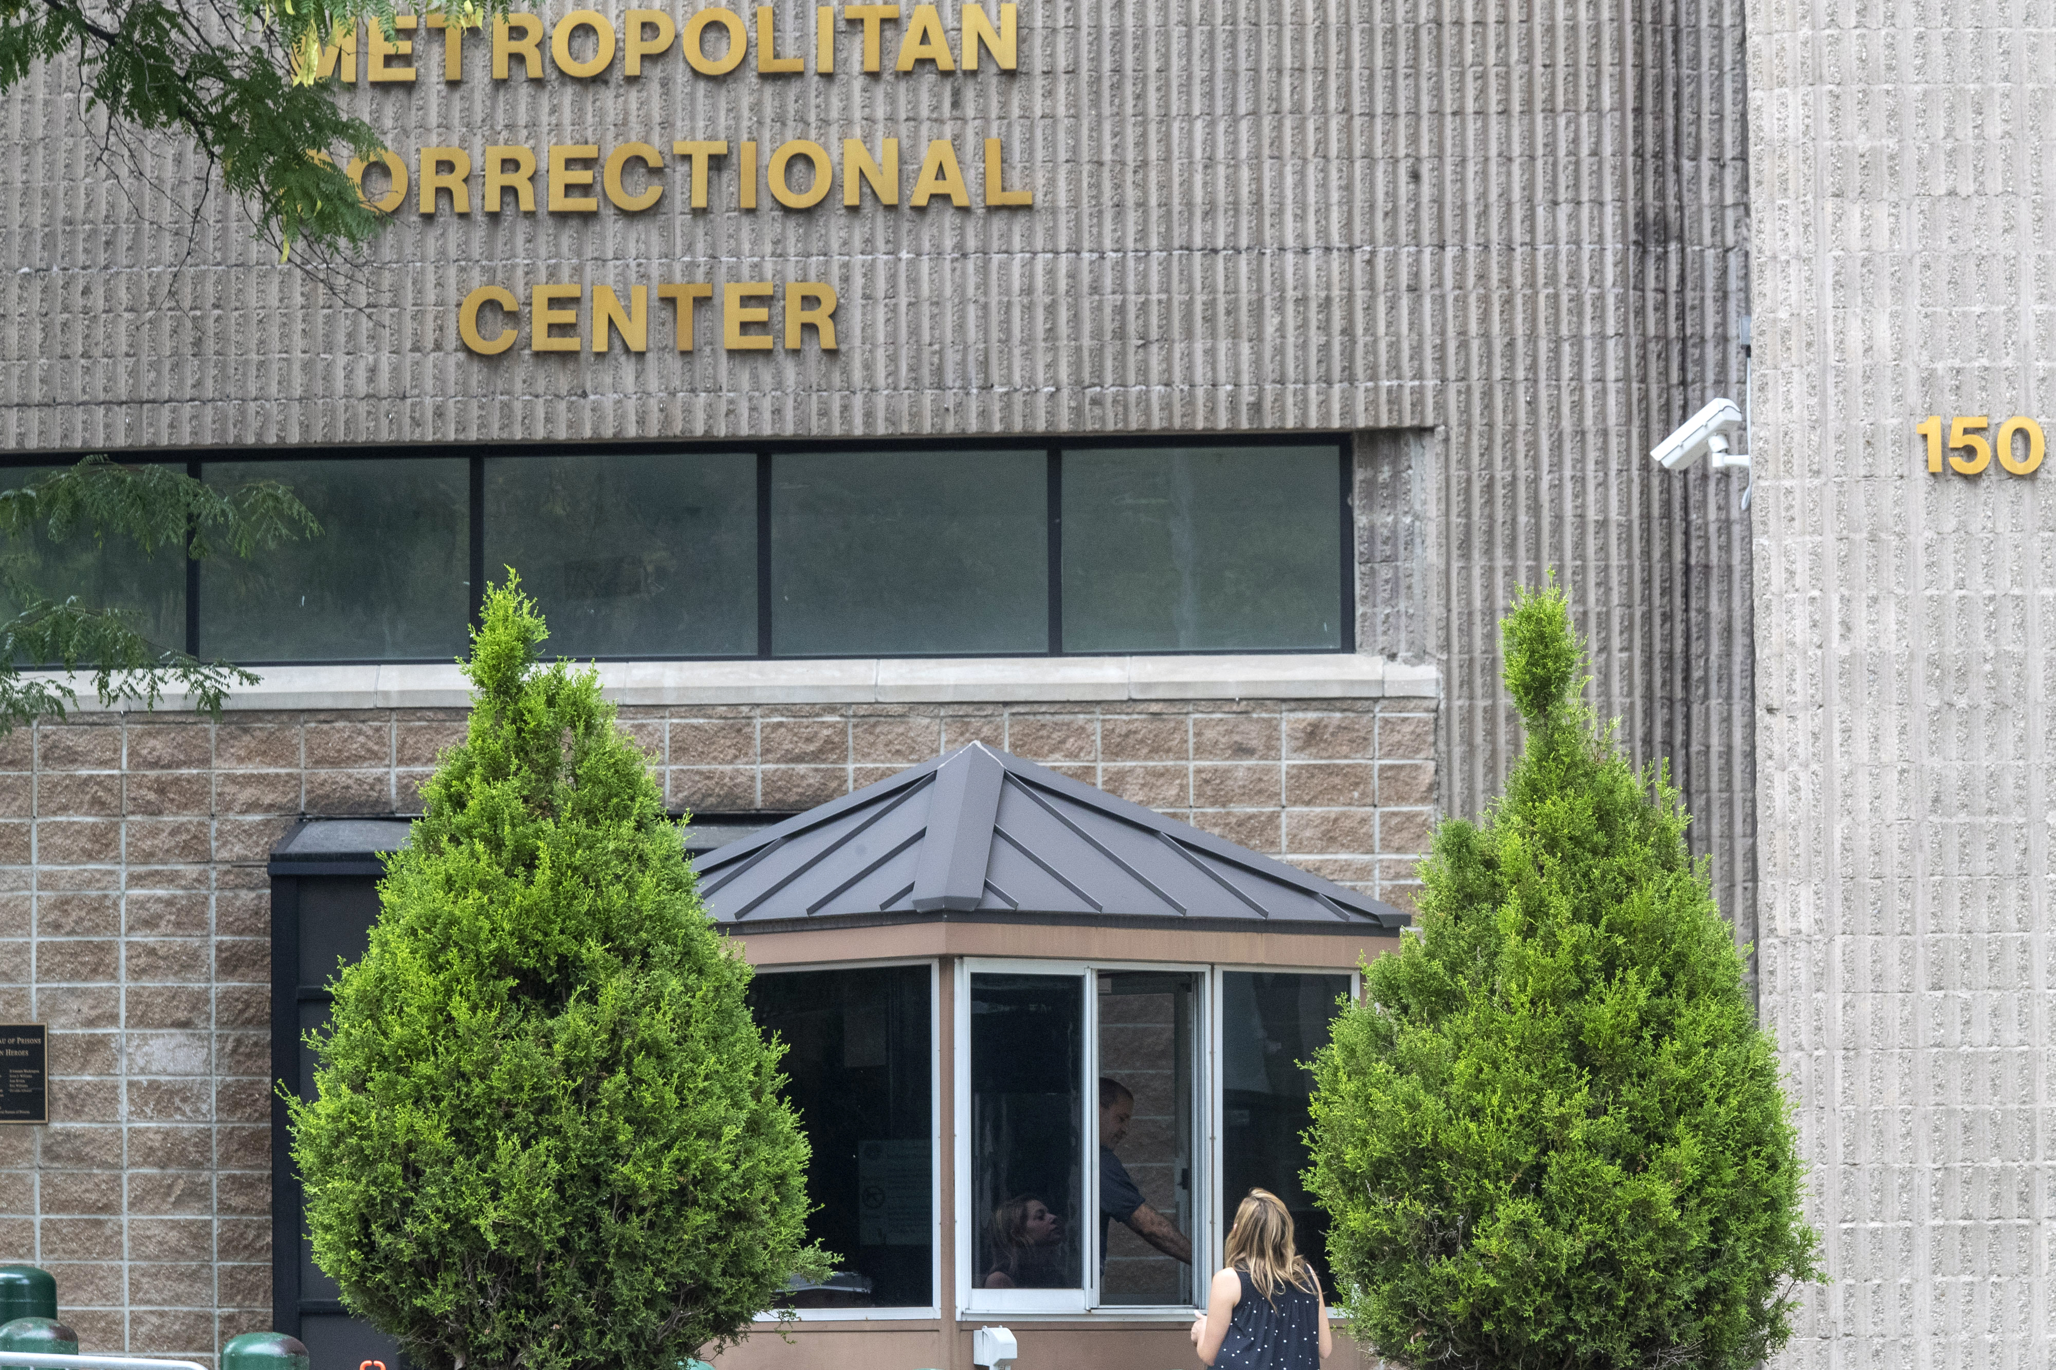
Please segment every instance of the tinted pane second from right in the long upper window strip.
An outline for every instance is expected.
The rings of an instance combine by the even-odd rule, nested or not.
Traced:
[[[781,657],[1049,651],[1042,452],[773,458]]]

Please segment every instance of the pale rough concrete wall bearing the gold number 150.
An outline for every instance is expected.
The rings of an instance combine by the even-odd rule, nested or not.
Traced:
[[[1750,4],[1762,1006],[1834,1284],[1785,1366],[2056,1360],[2048,6]]]

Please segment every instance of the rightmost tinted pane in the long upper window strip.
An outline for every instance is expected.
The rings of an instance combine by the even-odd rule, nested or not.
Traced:
[[[1063,454],[1063,649],[1343,643],[1341,458],[1324,448]]]

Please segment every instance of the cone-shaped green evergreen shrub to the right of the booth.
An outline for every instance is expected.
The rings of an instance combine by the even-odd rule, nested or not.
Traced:
[[[1820,1278],[1774,1043],[1667,768],[1581,702],[1563,592],[1503,635],[1526,754],[1437,826],[1419,930],[1314,1062],[1343,1308],[1404,1366],[1754,1366]]]

